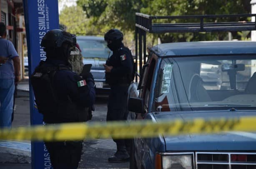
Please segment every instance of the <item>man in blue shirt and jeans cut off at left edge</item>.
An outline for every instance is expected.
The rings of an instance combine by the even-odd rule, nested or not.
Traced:
[[[20,81],[20,58],[13,43],[5,38],[6,26],[0,22],[0,127],[11,127],[15,83]]]

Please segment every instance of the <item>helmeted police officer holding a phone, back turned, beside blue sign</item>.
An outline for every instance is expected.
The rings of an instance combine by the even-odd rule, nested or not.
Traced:
[[[85,107],[95,102],[94,80],[90,72],[80,77],[70,70],[68,58],[76,37],[63,30],[50,30],[41,42],[46,60],[31,76],[38,111],[46,124],[85,122]],[[81,158],[81,141],[45,142],[54,169],[76,169]]]

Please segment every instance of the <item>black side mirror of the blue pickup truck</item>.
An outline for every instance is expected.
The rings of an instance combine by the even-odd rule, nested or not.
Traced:
[[[143,99],[138,97],[130,97],[128,100],[128,110],[135,113],[144,113]]]

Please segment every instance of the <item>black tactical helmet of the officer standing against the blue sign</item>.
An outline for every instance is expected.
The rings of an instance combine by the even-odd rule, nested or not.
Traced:
[[[76,36],[60,29],[54,29],[45,34],[41,47],[61,47],[64,42],[75,46]]]

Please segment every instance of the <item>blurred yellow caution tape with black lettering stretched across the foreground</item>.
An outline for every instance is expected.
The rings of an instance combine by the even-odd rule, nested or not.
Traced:
[[[256,117],[191,119],[174,121],[132,121],[107,123],[63,123],[1,129],[0,139],[63,141],[83,139],[129,139],[159,134],[206,134],[226,131],[256,131]]]

